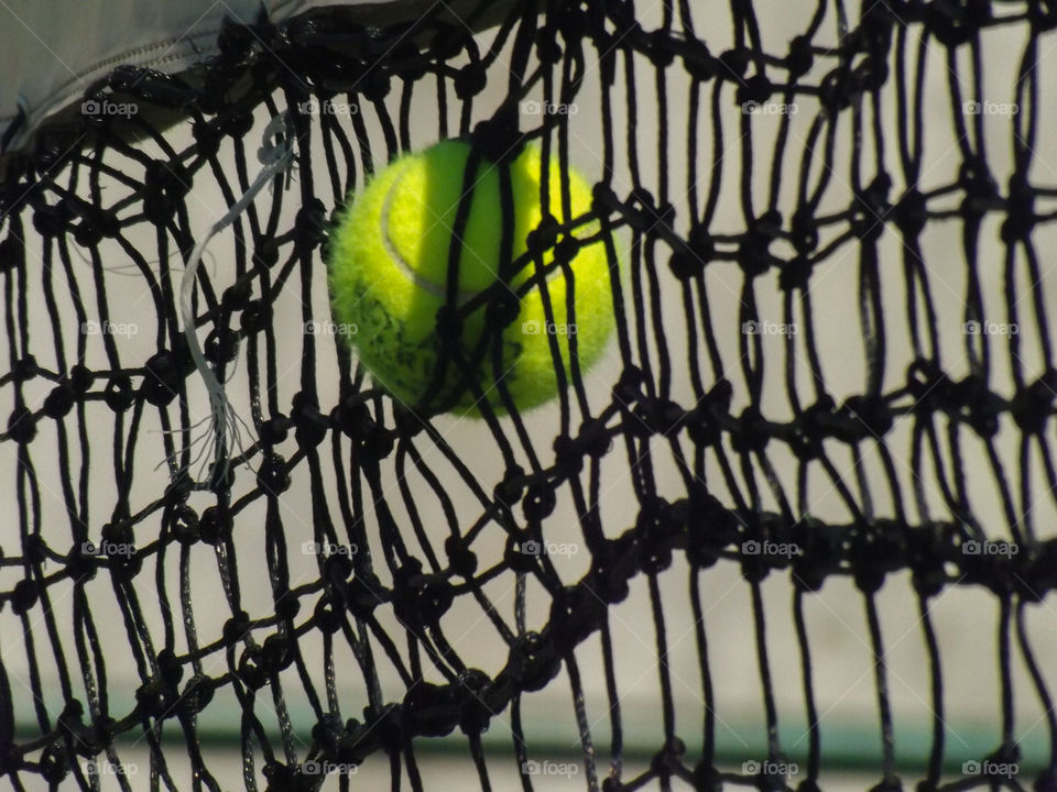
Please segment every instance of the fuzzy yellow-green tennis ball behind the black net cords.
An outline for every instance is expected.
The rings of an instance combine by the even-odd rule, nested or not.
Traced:
[[[453,354],[444,358],[447,371],[443,378],[435,380],[442,360],[437,312],[447,301],[451,234],[469,156],[468,143],[449,140],[394,160],[336,216],[327,264],[334,319],[341,327],[355,328],[344,337],[377,383],[408,406],[419,404],[428,394],[428,405],[434,409],[443,406],[478,414],[473,391],[466,386]],[[520,300],[510,298],[514,300],[512,308],[520,306],[516,320],[492,331],[502,330],[502,365],[498,371],[494,336],[486,340],[483,354],[477,351],[489,321],[489,300],[478,299],[472,312],[460,312],[464,318],[458,345],[462,359],[471,365],[477,362],[475,375],[488,402],[500,413],[504,409],[495,387],[500,378],[519,410],[557,396],[551,336],[556,337],[569,382],[571,339],[576,338],[584,372],[601,355],[613,328],[609,262],[606,245],[598,240],[575,250],[569,264],[571,283],[567,283],[562,267],[547,276],[553,321],[545,318],[533,260],[526,258],[524,267],[504,285],[495,286],[503,243],[500,168],[510,168],[514,261],[525,253],[526,237],[541,223],[541,158],[534,145],[526,146],[508,165],[479,157],[459,250],[457,307],[490,287],[513,293],[532,280]],[[591,189],[581,176],[568,172],[570,215],[564,216],[562,168],[556,156],[551,161],[548,211],[565,223],[590,210]],[[587,239],[597,232],[598,223],[592,221],[579,226],[573,235]],[[551,246],[543,262],[546,266],[553,261]],[[573,321],[567,311],[570,287]],[[435,382],[440,384],[439,393],[429,394]]]

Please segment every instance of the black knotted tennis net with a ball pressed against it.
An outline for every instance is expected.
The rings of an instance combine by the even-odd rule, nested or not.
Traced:
[[[1057,6],[849,6],[783,9],[784,36],[769,34],[777,7],[743,1],[520,2],[483,32],[443,3],[384,26],[341,7],[262,16],[226,25],[192,73],[116,68],[8,152],[0,772],[96,789],[139,744],[152,788],[219,790],[203,743],[222,724],[249,790],[346,789],[370,762],[393,789],[447,788],[419,762],[455,734],[449,756],[482,789],[554,770],[609,792],[808,791],[840,740],[813,618],[850,581],[875,730],[851,754],[870,783],[1055,789],[1053,669],[1033,646],[1057,582],[1043,154]],[[939,124],[951,143],[929,151]],[[541,414],[394,404],[328,314],[335,210],[399,153],[453,136],[483,156],[534,142],[591,174],[614,271],[626,257],[608,365],[573,366]],[[219,437],[179,298],[214,231],[189,316],[230,400]],[[723,570],[751,603],[737,644],[709,640]],[[663,594],[673,576],[682,604]],[[882,631],[896,585],[924,658],[916,765]],[[933,615],[960,588],[987,593],[970,624],[995,636],[996,676],[972,692],[995,703],[979,756],[951,745],[958,660]],[[621,645],[633,590],[643,606],[622,622],[645,641]],[[453,637],[458,608],[469,637]],[[678,608],[691,697],[668,662]],[[769,613],[793,636],[770,652]],[[645,736],[618,670],[642,652]],[[740,769],[721,656],[752,667],[760,703]],[[541,752],[548,716],[523,707],[559,682],[576,744]],[[1045,733],[1032,756],[1022,733]]]

